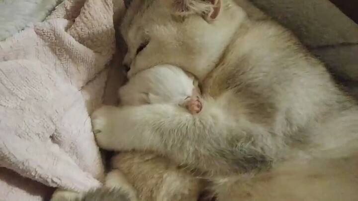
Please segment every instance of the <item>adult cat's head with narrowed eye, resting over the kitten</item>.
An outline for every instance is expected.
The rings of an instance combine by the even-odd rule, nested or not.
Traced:
[[[121,26],[128,77],[171,64],[203,79],[244,15],[231,0],[132,0]]]

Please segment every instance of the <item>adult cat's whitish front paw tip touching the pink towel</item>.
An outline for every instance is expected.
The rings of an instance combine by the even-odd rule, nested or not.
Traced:
[[[107,149],[110,147],[113,134],[113,106],[102,106],[91,115],[92,131],[99,147]]]

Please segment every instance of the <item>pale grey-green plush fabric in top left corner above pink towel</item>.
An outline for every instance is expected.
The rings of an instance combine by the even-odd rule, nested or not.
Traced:
[[[0,41],[40,22],[63,0],[0,0]]]

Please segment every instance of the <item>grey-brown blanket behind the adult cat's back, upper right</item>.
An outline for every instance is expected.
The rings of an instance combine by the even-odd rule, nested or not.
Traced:
[[[358,25],[329,0],[250,1],[292,30],[334,75],[358,81]]]

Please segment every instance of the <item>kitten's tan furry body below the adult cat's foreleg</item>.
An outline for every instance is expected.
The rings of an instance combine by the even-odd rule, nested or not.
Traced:
[[[122,174],[139,201],[197,201],[203,189],[199,179],[157,154],[121,152],[112,163],[110,174]]]

